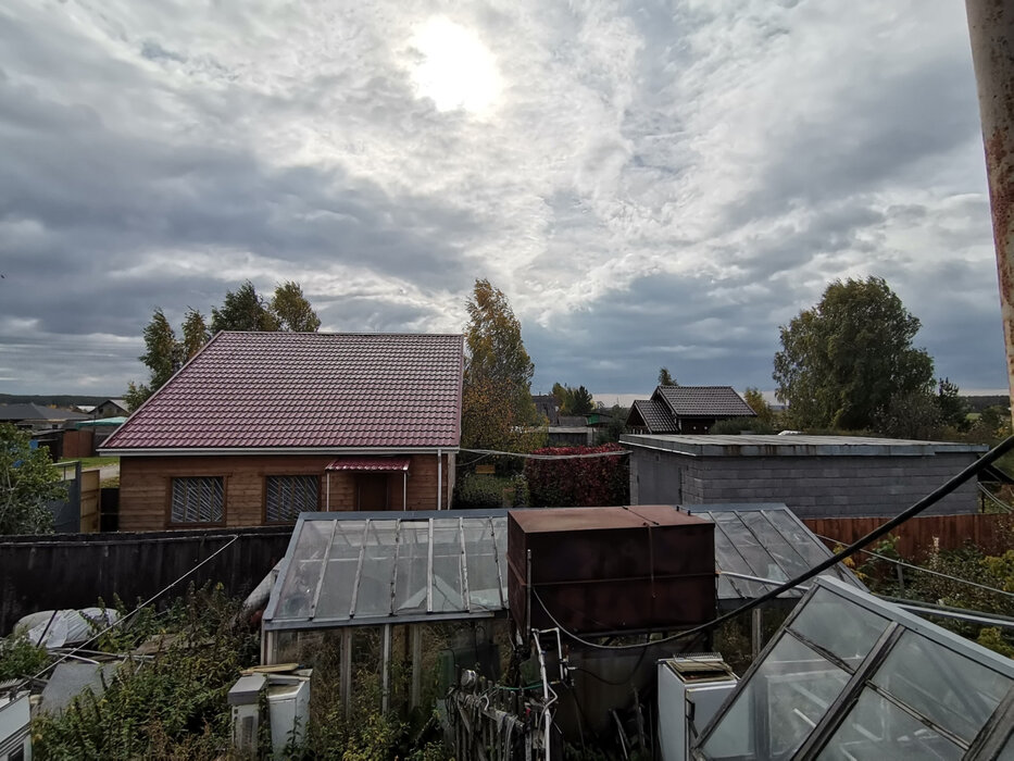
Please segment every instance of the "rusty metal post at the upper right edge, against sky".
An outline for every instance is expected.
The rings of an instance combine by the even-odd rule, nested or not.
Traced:
[[[1014,402],[1014,0],[965,0],[965,10],[986,147],[1007,383]]]

